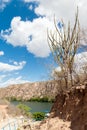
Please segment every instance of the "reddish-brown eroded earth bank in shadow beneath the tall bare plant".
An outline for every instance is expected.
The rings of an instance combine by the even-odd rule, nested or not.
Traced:
[[[87,82],[58,94],[51,113],[53,117],[71,121],[72,130],[87,130]]]

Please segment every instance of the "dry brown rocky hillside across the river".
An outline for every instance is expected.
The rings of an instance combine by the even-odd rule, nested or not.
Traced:
[[[11,85],[0,89],[0,98],[15,97],[20,100],[29,100],[34,97],[55,98],[58,92],[58,83],[56,81],[35,82]]]

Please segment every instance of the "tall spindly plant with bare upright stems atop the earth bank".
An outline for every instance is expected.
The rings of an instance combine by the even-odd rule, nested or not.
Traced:
[[[62,28],[59,29],[54,19],[55,31],[47,31],[48,44],[56,63],[60,66],[64,75],[65,86],[68,87],[69,81],[73,85],[72,72],[74,57],[79,45],[80,25],[78,19],[78,9],[75,15],[75,23],[71,28],[70,22],[66,28],[62,21]]]

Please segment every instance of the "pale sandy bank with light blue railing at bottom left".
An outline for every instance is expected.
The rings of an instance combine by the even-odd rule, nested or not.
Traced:
[[[8,107],[8,105],[0,105],[0,130],[17,129],[26,119],[22,115],[13,116],[13,113],[9,114]],[[26,119],[27,122],[28,120],[30,119]]]

